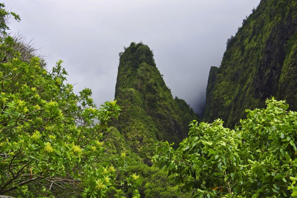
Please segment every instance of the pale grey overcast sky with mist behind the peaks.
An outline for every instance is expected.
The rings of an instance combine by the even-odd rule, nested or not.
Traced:
[[[2,0],[3,2],[3,0]],[[48,69],[63,60],[75,92],[99,106],[114,99],[119,52],[142,41],[154,52],[173,97],[199,112],[208,72],[260,0],[4,0],[20,15],[12,32],[42,47]],[[200,113],[200,112],[199,112]]]

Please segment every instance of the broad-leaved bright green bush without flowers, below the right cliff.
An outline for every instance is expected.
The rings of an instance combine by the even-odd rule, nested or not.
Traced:
[[[155,165],[193,197],[296,197],[297,112],[274,98],[266,104],[233,130],[219,119],[192,122],[177,150],[156,144]]]

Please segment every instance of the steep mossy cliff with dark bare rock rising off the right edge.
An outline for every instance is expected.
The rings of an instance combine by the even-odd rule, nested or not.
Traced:
[[[262,0],[228,39],[221,66],[210,70],[204,120],[232,127],[271,96],[297,110],[296,47],[297,1]]]

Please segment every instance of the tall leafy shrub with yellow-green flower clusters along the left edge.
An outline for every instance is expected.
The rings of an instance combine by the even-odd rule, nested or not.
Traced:
[[[5,32],[6,18],[19,18],[0,6]],[[90,89],[76,95],[64,83],[62,61],[48,72],[38,57],[23,60],[26,54],[15,50],[11,36],[3,34],[0,46],[0,194],[106,197],[119,183],[136,188],[136,174],[117,178],[127,168],[124,155],[114,164],[100,158],[108,121],[121,110],[116,101],[97,108]]]

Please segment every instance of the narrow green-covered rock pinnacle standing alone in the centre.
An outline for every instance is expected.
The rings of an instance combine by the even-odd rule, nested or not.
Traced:
[[[198,119],[189,105],[173,99],[147,45],[134,42],[120,53],[115,99],[123,111],[116,127],[141,157],[156,140],[179,143]]]

